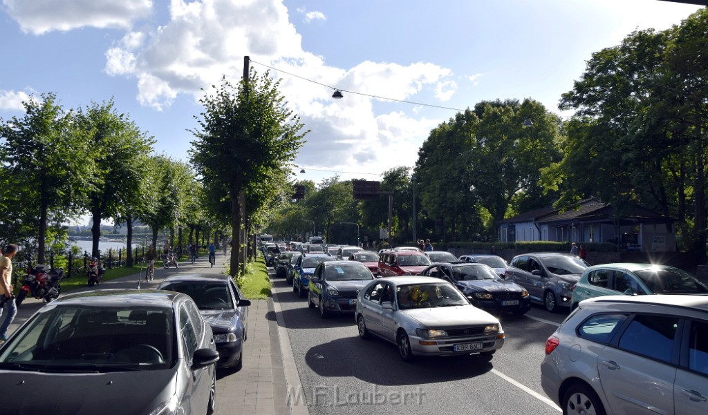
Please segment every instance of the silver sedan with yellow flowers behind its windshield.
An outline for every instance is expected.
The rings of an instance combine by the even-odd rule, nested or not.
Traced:
[[[496,317],[474,307],[447,281],[428,276],[376,279],[359,293],[359,336],[396,344],[403,361],[414,356],[493,354],[504,344]]]

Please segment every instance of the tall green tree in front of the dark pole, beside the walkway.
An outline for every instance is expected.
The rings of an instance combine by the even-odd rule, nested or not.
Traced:
[[[285,177],[303,144],[303,125],[278,91],[279,82],[266,72],[260,78],[251,70],[248,79],[234,87],[222,79],[215,95],[200,100],[205,106],[198,118],[200,129],[192,131],[190,156],[208,192],[218,192],[231,204],[234,250],[231,274],[239,269],[241,245],[241,193],[273,177]]]

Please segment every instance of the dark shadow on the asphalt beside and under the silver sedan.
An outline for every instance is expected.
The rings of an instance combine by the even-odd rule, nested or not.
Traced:
[[[347,358],[342,358],[347,356]],[[382,339],[337,339],[309,349],[305,362],[320,376],[346,378],[382,386],[421,385],[474,378],[493,368],[491,356],[421,357],[411,363]]]

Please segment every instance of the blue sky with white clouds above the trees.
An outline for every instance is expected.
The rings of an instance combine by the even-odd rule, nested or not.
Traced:
[[[431,129],[484,100],[562,93],[593,52],[701,6],[660,0],[0,0],[0,118],[55,93],[113,99],[188,161],[199,103],[244,56],[310,130],[293,180],[413,168]],[[344,98],[331,98],[336,89]],[[372,96],[373,95],[373,96]],[[374,98],[378,97],[378,98]],[[390,98],[382,99],[382,98]],[[300,173],[300,170],[305,173]]]

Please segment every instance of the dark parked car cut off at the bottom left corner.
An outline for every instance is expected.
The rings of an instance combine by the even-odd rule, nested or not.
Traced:
[[[212,414],[218,359],[212,329],[189,296],[69,294],[0,346],[0,412]]]

